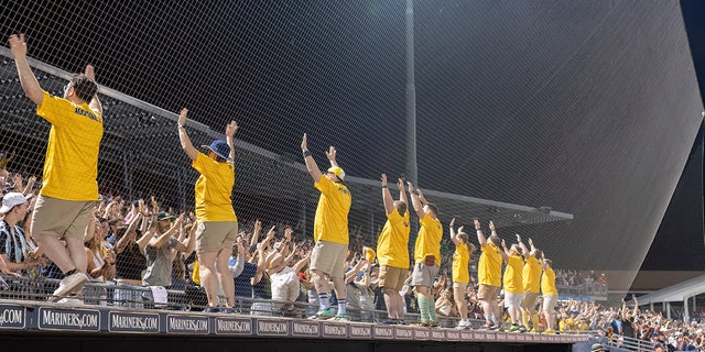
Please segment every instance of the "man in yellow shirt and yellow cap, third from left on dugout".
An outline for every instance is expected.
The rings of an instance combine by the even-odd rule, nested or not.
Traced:
[[[314,186],[321,193],[313,224],[313,240],[316,243],[311,253],[311,274],[318,293],[319,309],[310,319],[332,319],[347,321],[345,256],[348,251],[348,213],[352,197],[348,187],[343,183],[345,172],[336,162],[336,150],[330,146],[326,157],[330,167],[325,176],[318,169],[316,161],[308,152],[306,134],[301,142],[306,169],[314,180]],[[329,276],[333,280],[335,296],[338,299],[338,311],[334,316],[328,296]]]

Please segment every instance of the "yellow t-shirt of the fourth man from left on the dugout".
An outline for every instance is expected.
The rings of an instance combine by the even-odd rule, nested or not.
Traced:
[[[402,217],[397,208],[387,216],[377,240],[379,265],[409,268],[409,211]]]

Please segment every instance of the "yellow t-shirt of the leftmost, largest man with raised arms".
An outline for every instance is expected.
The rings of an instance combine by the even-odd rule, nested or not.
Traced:
[[[63,200],[98,200],[102,116],[44,91],[36,114],[52,124],[40,194]]]

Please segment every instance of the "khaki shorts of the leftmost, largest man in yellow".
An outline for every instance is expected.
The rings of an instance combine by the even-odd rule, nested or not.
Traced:
[[[57,239],[84,241],[96,200],[63,200],[40,195],[32,212],[31,231]]]

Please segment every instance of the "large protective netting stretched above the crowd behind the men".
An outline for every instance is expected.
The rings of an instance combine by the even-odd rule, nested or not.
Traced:
[[[381,173],[417,180],[441,221],[490,220],[532,238],[554,266],[614,273],[628,288],[687,161],[703,106],[676,2],[416,1],[416,164],[408,174],[408,2],[17,1],[0,33],[25,33],[40,85],[61,95],[96,67],[106,201],[193,209],[197,173],[178,144],[238,121],[241,228],[311,238],[318,166],[338,150],[354,205],[350,243],[375,246]],[[0,151],[41,178],[48,124],[0,65]],[[393,193],[397,197],[397,193]],[[415,218],[412,216],[412,222]],[[446,230],[447,233],[447,230]],[[410,248],[413,248],[414,231]],[[452,243],[443,253],[451,256]],[[445,264],[445,263],[444,263]],[[448,266],[444,266],[444,270]]]

